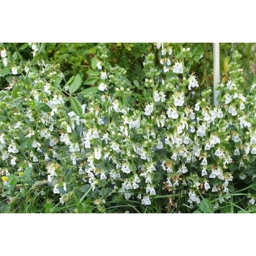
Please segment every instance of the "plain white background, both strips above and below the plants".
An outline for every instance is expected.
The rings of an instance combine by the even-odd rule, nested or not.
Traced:
[[[251,0],[20,0],[0,13],[0,42],[256,42]],[[252,255],[255,216],[2,214],[0,255]]]

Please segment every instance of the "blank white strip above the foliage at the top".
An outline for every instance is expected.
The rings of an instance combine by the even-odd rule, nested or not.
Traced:
[[[252,0],[2,1],[0,42],[256,42]]]

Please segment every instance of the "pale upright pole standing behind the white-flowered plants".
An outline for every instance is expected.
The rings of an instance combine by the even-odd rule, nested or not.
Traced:
[[[219,83],[219,43],[213,43],[213,103],[218,106],[219,91],[216,90]]]

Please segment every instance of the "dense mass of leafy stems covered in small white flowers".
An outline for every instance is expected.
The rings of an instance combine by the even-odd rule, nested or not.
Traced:
[[[190,49],[172,59],[171,49],[157,48],[162,66],[156,66],[154,54],[146,56],[150,95],[140,104],[126,71],[106,68],[104,61],[96,62],[98,93],[85,95],[82,106],[82,97],[67,97],[58,65],[24,67],[12,90],[0,92],[0,174],[9,200],[12,180],[24,179],[46,180],[61,204],[80,184],[90,186],[95,199],[112,194],[142,205],[167,195],[169,206],[184,196],[193,208],[212,194],[217,209],[234,183],[254,181],[256,86],[245,93],[240,55],[235,52],[230,79],[220,83],[218,106],[212,106],[208,89],[193,102],[199,83],[185,65]],[[36,45],[32,49],[36,54]],[[5,50],[1,57],[4,62]],[[15,67],[11,71],[17,74]],[[249,205],[254,198],[251,194]]]

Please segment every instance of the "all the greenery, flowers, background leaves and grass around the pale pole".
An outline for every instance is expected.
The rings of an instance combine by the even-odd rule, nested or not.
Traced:
[[[1,212],[255,212],[255,45],[1,44]]]

